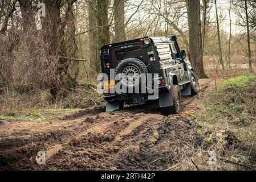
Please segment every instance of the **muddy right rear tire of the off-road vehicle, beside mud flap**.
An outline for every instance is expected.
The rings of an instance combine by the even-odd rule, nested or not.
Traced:
[[[178,114],[181,111],[180,87],[178,85],[173,85],[171,92],[173,93],[173,96],[172,96],[173,106],[169,106],[165,108],[165,113],[167,115]]]

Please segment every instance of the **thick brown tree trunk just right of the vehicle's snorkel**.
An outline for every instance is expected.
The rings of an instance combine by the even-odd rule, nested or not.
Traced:
[[[202,60],[202,34],[200,0],[187,0],[189,23],[189,56],[194,72],[199,78],[207,78]]]

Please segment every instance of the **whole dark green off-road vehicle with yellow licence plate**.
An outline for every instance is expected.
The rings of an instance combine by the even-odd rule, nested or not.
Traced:
[[[153,93],[117,93],[117,82],[121,79],[111,77],[121,73],[131,80],[135,74],[156,74],[151,80],[157,82],[151,89],[157,90],[156,101],[167,114],[176,114],[181,110],[181,96],[195,95],[199,92],[197,76],[189,61],[185,61],[186,53],[180,50],[177,36],[148,37],[107,44],[100,49],[102,73],[108,77],[101,78],[104,99],[107,101],[106,111],[121,109],[124,104],[143,105],[149,101]],[[126,81],[127,81],[126,80]],[[136,80],[132,78],[133,82]],[[141,84],[141,82],[139,82]],[[134,85],[132,85],[134,86]],[[146,85],[147,87],[147,85]],[[141,89],[140,89],[141,90]]]

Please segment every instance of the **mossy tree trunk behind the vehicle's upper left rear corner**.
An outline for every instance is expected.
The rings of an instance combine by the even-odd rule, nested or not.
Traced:
[[[109,24],[108,24],[108,3],[109,0],[97,0],[97,36],[98,50],[105,44],[110,43]],[[96,64],[97,73],[100,72],[100,60]]]

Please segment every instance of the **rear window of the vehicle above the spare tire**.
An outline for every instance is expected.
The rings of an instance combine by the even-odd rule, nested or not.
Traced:
[[[141,50],[141,46],[117,49],[113,53],[115,64],[119,64],[121,60],[127,59],[129,57],[135,57],[143,61],[143,53]]]

